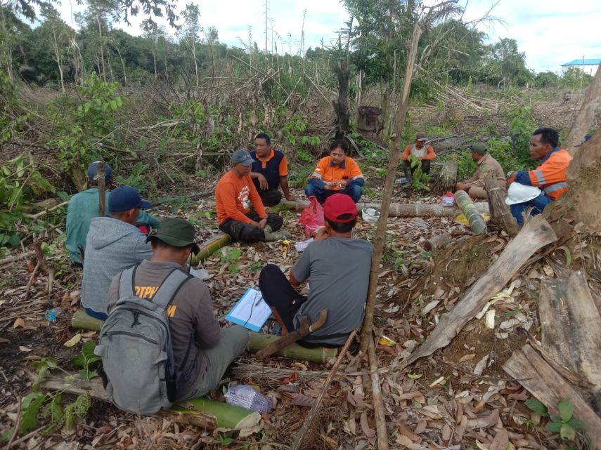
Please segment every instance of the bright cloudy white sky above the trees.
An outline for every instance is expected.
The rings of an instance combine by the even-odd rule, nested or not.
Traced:
[[[190,0],[176,0],[179,10]],[[200,6],[202,25],[214,26],[219,41],[241,47],[247,44],[248,27],[252,41],[265,48],[264,0],[192,0]],[[339,0],[268,0],[268,48],[271,51],[271,29],[278,50],[297,53],[306,10],[305,48],[330,44],[337,29],[344,27],[349,15]],[[437,3],[426,0],[427,3]],[[500,21],[481,22],[479,29],[491,41],[503,37],[516,39],[519,50],[526,52],[526,64],[537,72],[558,72],[565,62],[582,58],[601,58],[601,1],[599,0],[460,0],[465,7],[464,20],[478,20],[490,15]],[[59,7],[63,18],[72,26],[72,12],[81,11],[75,0],[63,0]],[[130,34],[140,34],[143,18],[132,18],[131,27],[120,24]]]

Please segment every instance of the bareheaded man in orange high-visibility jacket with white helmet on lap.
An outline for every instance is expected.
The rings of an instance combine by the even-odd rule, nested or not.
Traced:
[[[523,214],[531,208],[531,216],[540,214],[545,206],[560,198],[567,191],[566,170],[571,161],[567,150],[558,147],[560,135],[553,128],[538,128],[530,139],[530,156],[541,161],[534,171],[508,173],[508,183],[540,187],[543,192],[534,199],[512,201],[511,213],[517,223],[524,223]],[[511,191],[510,186],[510,191]],[[511,193],[511,192],[510,192]]]

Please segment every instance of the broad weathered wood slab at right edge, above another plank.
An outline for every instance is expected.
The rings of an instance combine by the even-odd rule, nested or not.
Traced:
[[[543,348],[590,383],[587,401],[601,415],[601,315],[582,272],[541,284]]]

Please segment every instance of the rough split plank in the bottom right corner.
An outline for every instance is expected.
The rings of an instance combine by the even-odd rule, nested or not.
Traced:
[[[595,444],[597,449],[601,448],[601,418],[530,345],[514,352],[503,364],[503,370],[543,402],[552,414],[558,415],[557,404],[568,399],[574,406],[574,417],[584,423],[584,433],[593,442],[591,448],[595,448]]]

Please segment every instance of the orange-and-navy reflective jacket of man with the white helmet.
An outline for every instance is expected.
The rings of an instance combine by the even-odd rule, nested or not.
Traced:
[[[522,183],[522,185],[541,187],[545,195],[557,200],[567,191],[566,169],[571,161],[567,150],[555,147],[543,163],[534,171],[517,171],[512,174],[509,182]]]

